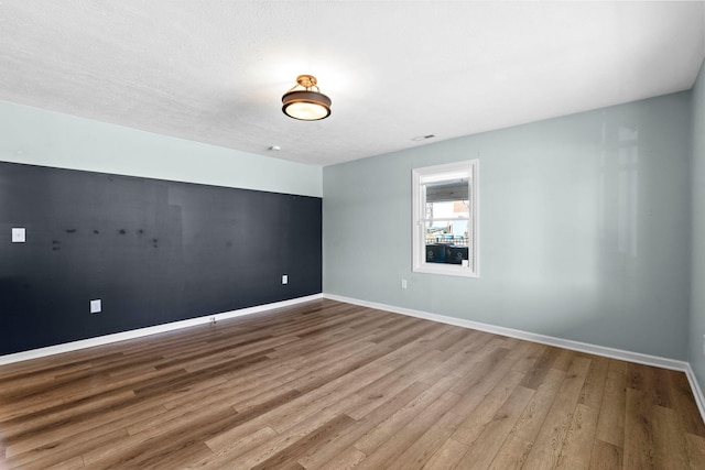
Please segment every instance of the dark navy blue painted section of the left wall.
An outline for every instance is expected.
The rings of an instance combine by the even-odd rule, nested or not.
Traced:
[[[0,354],[321,292],[321,198],[0,163]]]

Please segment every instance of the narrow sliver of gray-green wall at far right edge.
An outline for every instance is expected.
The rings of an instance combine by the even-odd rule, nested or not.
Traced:
[[[693,125],[693,236],[688,361],[705,390],[705,63],[692,90]]]

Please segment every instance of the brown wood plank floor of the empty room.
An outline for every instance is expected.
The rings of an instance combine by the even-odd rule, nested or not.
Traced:
[[[0,367],[0,468],[705,469],[681,372],[333,300]]]

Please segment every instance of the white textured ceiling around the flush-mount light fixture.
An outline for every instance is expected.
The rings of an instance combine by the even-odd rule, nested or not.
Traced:
[[[0,0],[0,100],[329,165],[690,89],[704,29],[703,1]],[[281,112],[300,74],[330,118]]]

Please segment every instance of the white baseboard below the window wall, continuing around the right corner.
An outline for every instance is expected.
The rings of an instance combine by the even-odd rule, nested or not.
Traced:
[[[482,324],[478,321],[464,320],[462,318],[447,317],[444,315],[430,314],[427,311],[413,310],[411,308],[397,307],[393,305],[378,304],[375,302],[360,300],[358,298],[344,297],[341,295],[326,294],[323,296],[332,300],[345,302],[346,304],[360,305],[362,307],[376,308],[378,310],[392,311],[394,314],[408,315],[411,317],[423,318],[426,320],[438,321],[442,324],[454,325],[464,328],[471,328],[480,331],[492,332],[496,335],[508,336],[510,338],[523,339],[527,341],[540,342],[542,345],[555,346],[558,348],[570,349],[573,351],[587,352],[589,354],[603,356],[610,359],[619,359],[621,361],[634,362],[638,364],[653,365],[662,369],[670,369],[685,373],[695,403],[701,412],[701,417],[705,422],[705,396],[701,390],[691,364],[685,361],[676,361],[674,359],[660,358],[658,356],[642,354],[639,352],[626,351],[622,349],[607,348],[604,346],[589,345],[570,339],[556,338],[552,336],[538,335],[529,331],[505,328],[495,325]]]

